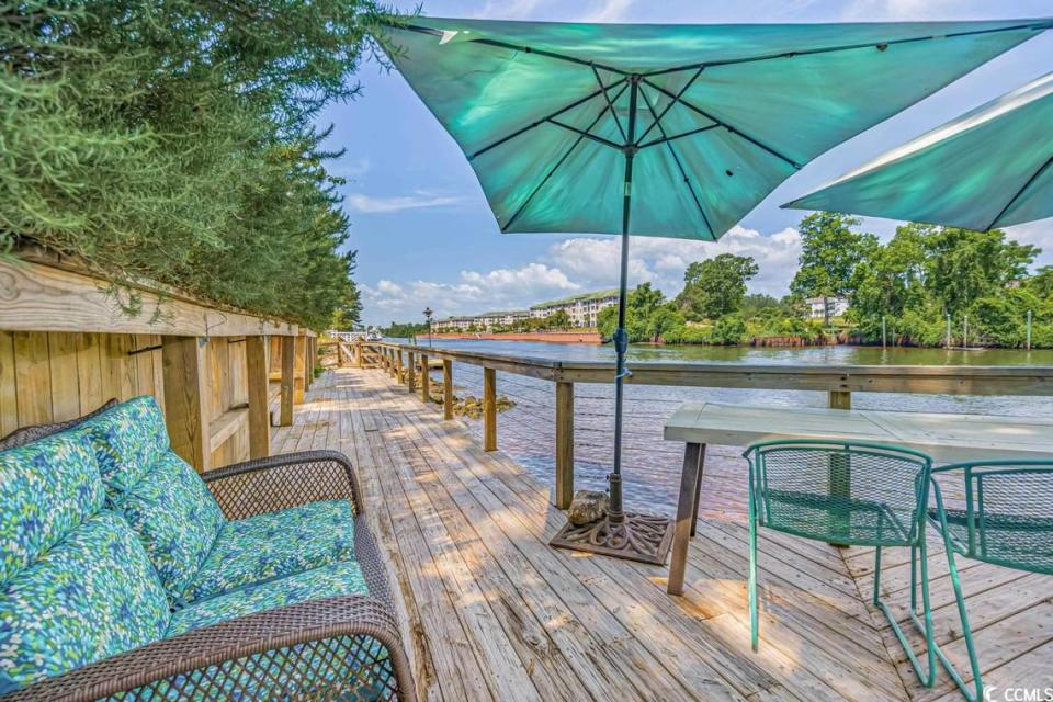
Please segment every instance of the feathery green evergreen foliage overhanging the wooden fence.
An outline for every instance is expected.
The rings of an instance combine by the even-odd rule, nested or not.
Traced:
[[[20,240],[325,328],[356,318],[313,127],[373,0],[24,0],[0,16],[0,253]]]

